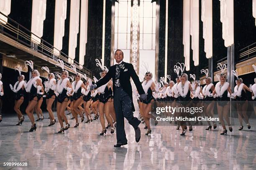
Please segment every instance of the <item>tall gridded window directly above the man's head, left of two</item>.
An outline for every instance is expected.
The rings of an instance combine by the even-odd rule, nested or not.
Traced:
[[[115,2],[115,50],[124,53],[124,61],[130,62],[131,0]]]

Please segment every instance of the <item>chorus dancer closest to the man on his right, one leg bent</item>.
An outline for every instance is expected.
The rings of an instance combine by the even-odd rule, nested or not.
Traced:
[[[148,67],[146,68],[146,70],[148,70]],[[152,130],[150,128],[150,122],[149,119],[154,119],[155,125],[158,124],[158,121],[156,120],[156,117],[154,117],[152,114],[150,114],[149,112],[151,112],[151,102],[154,101],[154,97],[152,92],[158,92],[159,88],[157,88],[158,86],[155,85],[154,80],[152,80],[153,74],[149,71],[146,72],[145,74],[145,81],[142,83],[142,87],[143,90],[146,94],[146,99],[141,100],[142,102],[142,115],[144,117],[144,120],[146,122],[146,126],[147,126],[147,133],[145,135],[149,135],[151,134]]]

